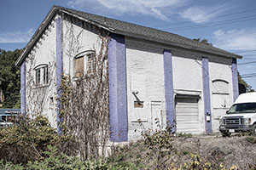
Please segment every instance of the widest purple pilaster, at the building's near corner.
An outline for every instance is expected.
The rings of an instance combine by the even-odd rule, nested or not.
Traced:
[[[108,42],[110,141],[128,141],[125,37],[112,34]]]

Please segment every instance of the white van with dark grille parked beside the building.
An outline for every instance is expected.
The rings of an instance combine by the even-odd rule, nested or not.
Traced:
[[[219,131],[223,136],[240,132],[256,135],[256,92],[238,96],[226,115],[220,117]]]

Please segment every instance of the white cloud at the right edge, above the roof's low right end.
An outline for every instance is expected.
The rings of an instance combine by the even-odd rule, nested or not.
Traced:
[[[226,50],[256,49],[256,29],[214,31],[213,44]]]

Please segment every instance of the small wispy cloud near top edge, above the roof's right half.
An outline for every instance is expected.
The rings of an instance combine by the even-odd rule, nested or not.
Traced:
[[[215,6],[215,7],[190,7],[185,9],[180,15],[184,19],[191,20],[195,23],[203,23],[207,20],[210,20],[212,17],[217,16],[218,14],[221,14],[224,12],[224,10],[227,10],[225,7],[226,5],[222,6]]]

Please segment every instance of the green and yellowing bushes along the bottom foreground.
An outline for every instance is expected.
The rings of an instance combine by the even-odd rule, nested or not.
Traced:
[[[70,150],[63,150],[72,148],[67,146],[72,140],[57,135],[44,116],[38,116],[32,121],[24,118],[18,125],[0,130],[0,169],[238,169],[236,166],[227,168],[221,162],[201,159],[193,153],[186,154],[190,155],[190,161],[174,164],[172,156],[178,154],[178,148],[172,145],[171,141],[175,137],[169,128],[160,128],[154,133],[144,129],[142,134],[143,141],[116,147],[113,155],[108,158],[81,161],[79,156],[71,156]],[[250,138],[251,140],[253,139]],[[72,149],[76,150],[74,147]],[[131,152],[138,149],[138,153]],[[251,169],[255,170],[256,164]]]

